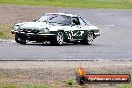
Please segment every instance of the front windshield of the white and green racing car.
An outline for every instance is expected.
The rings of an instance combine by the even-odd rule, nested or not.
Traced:
[[[58,14],[46,14],[42,16],[39,22],[49,22],[49,23],[57,23],[61,25],[70,25],[71,24],[71,17],[65,15],[58,15]]]

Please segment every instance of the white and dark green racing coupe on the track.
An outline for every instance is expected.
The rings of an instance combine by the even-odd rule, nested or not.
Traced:
[[[99,29],[82,17],[65,13],[46,13],[37,21],[17,23],[11,33],[20,44],[50,41],[53,45],[64,42],[91,45],[100,35]]]

